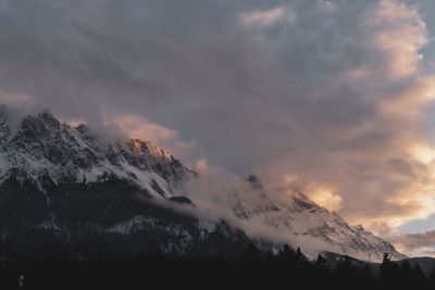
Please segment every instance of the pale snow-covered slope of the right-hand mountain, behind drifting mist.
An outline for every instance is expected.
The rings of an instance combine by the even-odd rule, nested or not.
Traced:
[[[211,200],[221,207],[229,206],[237,224],[252,237],[273,237],[275,241],[301,247],[312,256],[331,251],[370,262],[382,261],[384,253],[394,260],[406,257],[389,242],[362,226],[349,226],[339,215],[319,206],[301,192],[274,194],[254,176],[248,182],[250,188],[241,190],[233,188],[225,192],[220,188]]]

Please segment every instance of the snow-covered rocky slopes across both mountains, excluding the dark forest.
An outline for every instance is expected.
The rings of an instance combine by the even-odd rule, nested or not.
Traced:
[[[250,176],[247,181],[241,180],[239,186],[231,190],[224,189],[227,180],[221,179],[221,186],[207,185],[214,188],[211,190],[212,196],[207,196],[206,191],[210,191],[209,189],[199,190],[195,196],[195,192],[184,188],[184,180],[188,176],[195,174],[170,153],[150,142],[139,139],[104,141],[86,125],[71,127],[69,124],[62,124],[47,110],[37,115],[26,116],[17,128],[11,128],[8,110],[0,108],[0,185],[15,180],[23,185],[32,182],[37,186],[46,196],[47,216],[40,220],[40,225],[46,228],[48,225],[51,225],[48,228],[53,230],[69,228],[72,220],[78,218],[72,214],[73,217],[64,219],[62,224],[61,215],[65,209],[61,211],[55,206],[59,202],[63,204],[62,199],[74,199],[53,194],[61,190],[62,186],[74,185],[72,188],[75,188],[77,185],[91,186],[115,179],[126,181],[128,186],[162,200],[188,197],[196,203],[197,210],[203,205],[201,200],[207,204],[215,203],[226,211],[225,214],[220,212],[217,219],[237,220],[232,224],[253,239],[288,242],[295,247],[300,245],[308,252],[327,250],[365,261],[380,261],[384,253],[396,260],[405,257],[387,241],[361,226],[350,227],[340,216],[316,205],[300,192],[295,191],[285,198],[276,199],[273,191],[265,189],[257,177]],[[196,178],[187,179],[195,181]],[[122,197],[126,199],[127,196]],[[112,202],[115,197],[104,199],[107,200],[100,202]],[[130,204],[132,201],[122,202]],[[29,206],[36,205],[33,203]],[[119,235],[136,235],[137,231],[156,229],[156,218],[144,215],[141,210],[134,216],[130,216],[133,212],[127,213],[122,219],[108,217],[112,224],[99,227],[105,227],[103,232]],[[231,213],[231,216],[227,213]],[[92,216],[91,213],[87,214]],[[113,215],[117,216],[115,212]],[[199,219],[198,225],[201,223],[211,222]],[[209,228],[216,228],[219,223],[211,223]],[[8,227],[9,225],[5,225],[5,230]],[[177,230],[182,232],[183,228],[186,230],[189,227],[181,225]],[[190,228],[186,231],[187,236],[181,237],[203,235],[206,231],[198,227]],[[221,234],[224,234],[224,228],[220,228]],[[160,226],[160,229],[173,231],[167,224]],[[196,232],[198,230],[200,234]],[[213,230],[209,231],[214,232]],[[179,242],[185,243],[188,240]],[[173,249],[176,241],[169,243]]]

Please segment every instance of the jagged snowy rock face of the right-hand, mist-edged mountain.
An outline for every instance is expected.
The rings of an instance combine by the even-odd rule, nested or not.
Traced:
[[[253,178],[249,178],[253,180]],[[233,211],[240,219],[252,220],[285,234],[295,247],[303,241],[318,245],[318,251],[333,250],[370,262],[380,262],[384,253],[394,260],[406,256],[389,242],[374,236],[362,226],[350,227],[339,215],[319,206],[304,194],[295,191],[285,202],[273,201],[256,180],[249,199],[236,198]],[[299,244],[298,244],[299,242]]]

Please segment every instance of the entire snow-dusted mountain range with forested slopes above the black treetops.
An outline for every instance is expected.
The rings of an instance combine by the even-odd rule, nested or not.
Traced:
[[[197,175],[150,142],[107,140],[86,125],[60,123],[47,110],[12,127],[3,106],[0,256],[130,260],[158,250],[237,257],[250,243],[274,250],[289,242],[365,261],[380,261],[384,252],[405,257],[300,192],[273,199],[254,176],[247,190],[220,191],[210,200],[234,218],[209,218],[185,188]],[[258,235],[252,225],[271,236]]]

